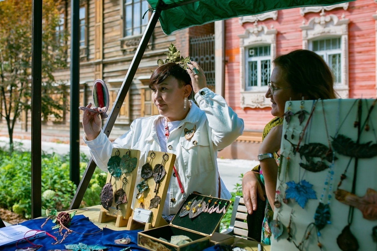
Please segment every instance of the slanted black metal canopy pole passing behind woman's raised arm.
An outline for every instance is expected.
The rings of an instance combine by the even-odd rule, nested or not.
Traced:
[[[133,56],[130,68],[127,71],[126,78],[123,81],[123,84],[119,90],[118,96],[115,99],[113,108],[109,114],[109,118],[104,125],[103,131],[109,137],[109,134],[114,126],[116,117],[118,117],[120,108],[126,98],[127,91],[129,90],[133,77],[135,76],[136,70],[139,67],[141,58],[144,55],[144,52],[147,48],[149,43],[150,37],[152,37],[153,30],[156,27],[157,20],[159,18],[159,12],[153,11],[152,17],[150,17],[149,23],[147,28],[144,32],[143,37],[141,38],[140,44],[138,49],[136,50],[135,56]],[[77,106],[78,107],[78,106]],[[73,108],[73,106],[72,106]],[[80,206],[81,201],[83,200],[84,193],[89,185],[89,181],[92,178],[93,172],[96,168],[95,162],[90,158],[89,163],[86,166],[86,170],[84,172],[83,178],[80,181],[80,184],[76,190],[75,196],[72,200],[72,203],[69,206],[69,210],[76,209]]]

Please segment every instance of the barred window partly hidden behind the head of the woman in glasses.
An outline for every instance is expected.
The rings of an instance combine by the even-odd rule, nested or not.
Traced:
[[[342,48],[340,38],[325,38],[311,43],[313,52],[322,56],[334,74],[334,83],[342,83]]]

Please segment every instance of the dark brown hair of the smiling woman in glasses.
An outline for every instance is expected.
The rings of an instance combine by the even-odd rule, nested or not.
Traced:
[[[308,99],[335,99],[334,77],[325,60],[311,50],[294,50],[272,62],[292,90]]]

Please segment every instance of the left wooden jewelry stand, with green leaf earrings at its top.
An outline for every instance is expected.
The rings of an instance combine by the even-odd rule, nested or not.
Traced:
[[[130,152],[131,158],[136,158],[138,161],[136,163],[136,168],[130,173],[123,173],[119,178],[112,177],[111,174],[107,173],[107,180],[106,183],[109,183],[111,178],[113,192],[118,189],[121,189],[123,186],[123,178],[127,179],[127,182],[124,184],[123,189],[127,195],[127,202],[118,205],[118,209],[116,209],[116,203],[113,198],[113,203],[109,210],[106,210],[104,207],[101,207],[100,215],[98,217],[98,222],[107,222],[111,221],[116,218],[115,227],[124,227],[127,225],[129,218],[132,213],[131,203],[133,199],[133,188],[135,187],[136,176],[138,172],[138,164],[140,158],[140,151],[138,150],[129,150],[123,148],[113,148],[111,156],[116,156],[116,151],[119,151],[119,156],[122,157],[123,155]]]

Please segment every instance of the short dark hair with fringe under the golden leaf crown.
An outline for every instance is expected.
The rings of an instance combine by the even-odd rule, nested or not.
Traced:
[[[149,87],[153,84],[159,84],[167,77],[173,76],[178,81],[178,87],[189,85],[191,78],[189,73],[176,63],[166,63],[159,66],[153,71],[152,76],[149,79]]]

